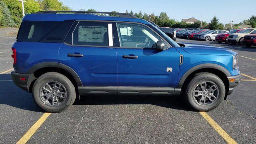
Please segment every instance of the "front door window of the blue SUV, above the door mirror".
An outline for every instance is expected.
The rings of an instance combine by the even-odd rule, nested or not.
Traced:
[[[154,48],[160,37],[140,24],[117,23],[120,46],[125,48]]]

